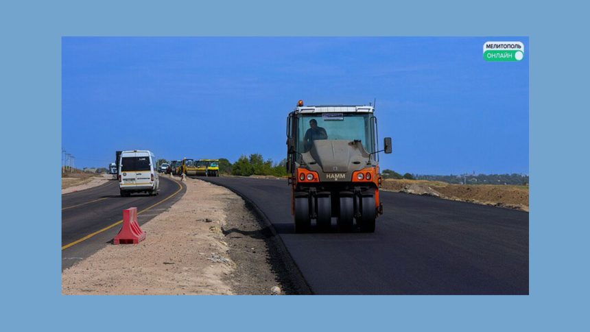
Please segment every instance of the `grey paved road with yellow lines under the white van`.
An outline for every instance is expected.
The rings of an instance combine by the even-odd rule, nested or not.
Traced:
[[[168,209],[182,197],[185,191],[185,185],[161,175],[160,191],[157,196],[134,193],[131,197],[121,197],[119,182],[116,180],[109,180],[98,187],[62,195],[62,270],[109,244],[119,233],[121,224],[77,244],[73,243],[119,222],[123,219],[124,209],[137,207],[139,213],[137,222],[142,225]],[[69,246],[71,244],[73,245]]]

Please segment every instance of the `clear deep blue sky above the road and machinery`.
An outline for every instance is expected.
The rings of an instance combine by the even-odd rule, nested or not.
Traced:
[[[521,41],[525,57],[486,62],[488,40]],[[62,146],[77,167],[106,167],[130,149],[278,162],[298,99],[376,98],[380,140],[394,142],[382,169],[528,174],[528,56],[522,37],[67,37]]]

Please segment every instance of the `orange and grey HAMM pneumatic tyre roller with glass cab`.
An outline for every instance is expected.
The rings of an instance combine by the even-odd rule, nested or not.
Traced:
[[[287,116],[287,174],[296,233],[331,228],[375,232],[379,202],[379,152],[375,106],[304,106]]]

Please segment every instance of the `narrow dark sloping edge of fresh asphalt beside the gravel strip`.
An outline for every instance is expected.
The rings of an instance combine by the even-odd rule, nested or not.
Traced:
[[[279,233],[276,233],[274,226],[272,226],[272,223],[270,222],[266,214],[264,214],[264,212],[261,209],[259,209],[259,207],[254,202],[252,202],[250,198],[246,197],[246,195],[242,194],[237,189],[233,189],[226,185],[222,185],[221,183],[211,182],[207,179],[202,178],[197,179],[209,182],[211,183],[211,185],[224,187],[232,191],[239,197],[241,197],[241,199],[244,200],[244,202],[246,203],[246,209],[249,209],[255,215],[255,217],[257,217],[257,220],[262,220],[264,225],[270,229],[270,232],[272,233],[272,239],[270,240],[273,242],[277,252],[279,252],[281,257],[283,257],[283,263],[285,264],[285,268],[287,268],[287,273],[291,277],[291,282],[293,283],[294,287],[296,287],[298,292],[300,292],[300,295],[314,294],[314,292],[311,290],[311,287],[309,287],[309,284],[303,277],[303,273],[301,273],[301,270],[299,270],[297,263],[295,263],[295,260],[291,256],[291,253],[289,252],[289,250],[287,250],[287,246],[285,246],[283,239],[279,236]]]

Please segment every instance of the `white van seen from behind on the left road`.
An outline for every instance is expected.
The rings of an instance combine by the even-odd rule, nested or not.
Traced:
[[[160,179],[156,171],[156,156],[147,150],[121,152],[119,159],[119,191],[121,196],[131,193],[157,195]]]

